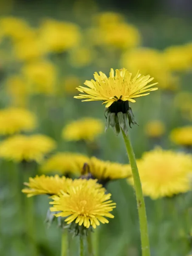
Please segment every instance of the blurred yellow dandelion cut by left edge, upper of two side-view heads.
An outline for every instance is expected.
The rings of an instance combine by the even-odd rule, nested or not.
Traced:
[[[14,134],[31,131],[37,125],[34,113],[23,108],[5,108],[0,110],[0,134]]]

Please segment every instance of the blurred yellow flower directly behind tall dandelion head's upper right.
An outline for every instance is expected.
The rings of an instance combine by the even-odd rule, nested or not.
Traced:
[[[169,72],[162,53],[156,49],[140,47],[124,52],[121,65],[133,73],[139,70],[145,76],[151,74],[161,89],[175,90],[178,87],[177,78]]]

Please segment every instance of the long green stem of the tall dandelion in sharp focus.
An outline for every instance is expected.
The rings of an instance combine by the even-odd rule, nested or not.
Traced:
[[[127,154],[130,161],[130,166],[132,169],[132,175],[134,180],[134,186],[136,191],[136,200],[137,200],[137,208],[138,208],[138,216],[139,216],[139,223],[140,223],[140,233],[141,233],[141,250],[142,256],[150,256],[150,243],[149,243],[149,236],[148,236],[148,228],[147,228],[147,215],[145,209],[145,202],[141,187],[141,181],[138,174],[138,168],[136,164],[135,154],[133,152],[133,147],[130,142],[129,134],[124,133],[121,129],[123,134],[124,142],[127,148]]]

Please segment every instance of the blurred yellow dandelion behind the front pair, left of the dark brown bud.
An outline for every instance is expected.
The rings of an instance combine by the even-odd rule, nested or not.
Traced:
[[[70,173],[81,175],[84,163],[88,163],[89,159],[83,154],[58,152],[46,160],[42,166],[42,172],[59,172],[64,175]]]

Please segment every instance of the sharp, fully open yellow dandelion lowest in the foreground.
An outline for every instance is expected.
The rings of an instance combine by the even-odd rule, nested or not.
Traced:
[[[108,223],[107,218],[114,218],[110,213],[116,204],[110,200],[111,194],[106,194],[104,189],[90,186],[91,180],[82,180],[79,186],[70,186],[68,193],[53,196],[54,201],[50,202],[53,207],[51,212],[59,211],[56,217],[67,217],[67,224],[75,222],[79,226],[92,226],[96,228],[101,223]],[[91,183],[93,183],[91,181]],[[107,218],[106,218],[107,217]]]

